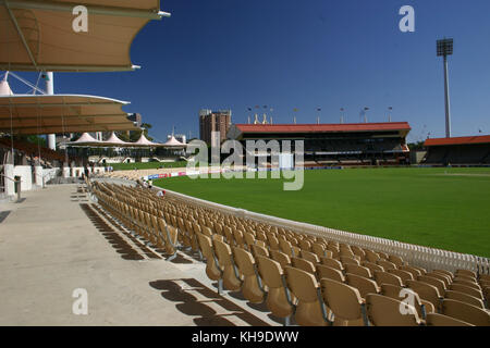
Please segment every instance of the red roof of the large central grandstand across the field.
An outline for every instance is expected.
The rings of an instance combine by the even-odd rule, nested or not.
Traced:
[[[342,124],[234,124],[233,138],[244,133],[347,133],[347,132],[388,132],[408,133],[412,128],[407,122],[387,123],[342,123]]]

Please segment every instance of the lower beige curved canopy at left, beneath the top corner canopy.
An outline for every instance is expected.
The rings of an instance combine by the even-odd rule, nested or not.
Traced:
[[[125,104],[128,102],[82,95],[0,96],[0,133],[139,130],[122,111]]]

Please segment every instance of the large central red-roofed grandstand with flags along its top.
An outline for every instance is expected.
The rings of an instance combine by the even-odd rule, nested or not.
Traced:
[[[235,124],[228,138],[304,140],[305,166],[409,164],[407,122],[353,124]],[[294,144],[292,145],[294,149]]]

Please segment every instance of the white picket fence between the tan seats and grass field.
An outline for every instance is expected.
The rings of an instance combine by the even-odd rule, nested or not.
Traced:
[[[448,270],[454,272],[458,269],[464,269],[471,270],[479,274],[490,274],[490,259],[488,258],[416,246],[396,240],[359,235],[345,231],[296,222],[287,219],[259,214],[243,209],[218,204],[167,189],[166,195],[177,197],[203,208],[210,208],[221,212],[231,213],[237,217],[250,219],[257,222],[280,226],[314,236],[324,237],[331,240],[336,240],[339,243],[344,243],[360,248],[395,254],[403,258],[403,260],[407,261],[411,265],[420,266],[428,271]]]

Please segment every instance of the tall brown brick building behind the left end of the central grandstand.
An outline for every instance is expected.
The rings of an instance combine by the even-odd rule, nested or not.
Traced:
[[[199,134],[200,139],[208,145],[226,139],[226,133],[231,126],[231,110],[211,111],[201,109],[199,111]],[[212,132],[219,132],[220,138],[213,139]]]

